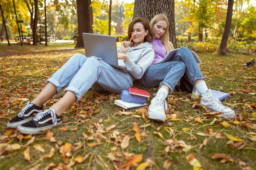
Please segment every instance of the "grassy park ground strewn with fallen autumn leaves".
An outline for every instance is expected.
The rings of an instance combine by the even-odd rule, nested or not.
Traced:
[[[23,107],[25,102],[16,100],[17,98],[27,98],[32,100],[46,85],[46,79],[49,78],[58,68],[61,67],[73,54],[84,54],[84,49],[76,49],[73,44],[58,44],[49,43],[48,47],[44,45],[11,45],[0,44],[0,135],[3,136],[8,130],[6,123],[9,119],[13,118]],[[246,67],[241,64],[248,62],[255,56],[247,56],[240,54],[228,54],[226,57],[219,57],[215,53],[198,53],[201,61],[203,62],[199,67],[206,78],[206,82],[209,88],[224,91],[235,92],[235,95],[225,99],[222,103],[229,106],[232,109],[236,109],[237,116],[247,113],[242,121],[248,121],[255,124],[255,120],[252,120],[252,113],[256,112],[255,108],[250,109],[249,105],[256,102],[256,96],[253,93],[256,92],[256,71],[254,67]],[[142,85],[135,82],[135,87],[145,89],[151,94],[151,98],[147,100],[147,104],[154,97],[157,89],[146,89]],[[248,92],[243,92],[240,89],[246,89]],[[203,108],[192,108],[192,102],[198,102],[199,100],[193,100],[190,94],[186,92],[174,91],[169,100],[175,99],[176,105],[169,104],[169,109],[176,113],[177,118],[184,121],[166,121],[164,123],[154,122],[151,120],[144,120],[143,118],[131,118],[129,116],[120,116],[116,114],[118,111],[123,111],[122,108],[118,108],[114,105],[114,99],[119,99],[119,95],[111,93],[97,93],[93,90],[89,90],[79,102],[76,102],[73,107],[66,110],[63,116],[67,116],[67,122],[59,125],[52,130],[54,137],[59,142],[59,145],[55,142],[49,142],[45,140],[45,133],[35,136],[35,142],[30,144],[30,157],[32,161],[26,161],[23,156],[26,146],[21,147],[19,150],[9,151],[0,156],[0,169],[8,170],[10,167],[14,169],[29,169],[36,164],[41,164],[41,169],[44,169],[50,163],[65,165],[61,153],[59,153],[59,147],[66,142],[74,145],[76,142],[83,142],[83,147],[76,152],[72,152],[73,158],[77,156],[85,156],[87,153],[92,155],[80,164],[73,166],[73,169],[90,169],[97,170],[106,169],[107,165],[109,169],[114,169],[113,162],[108,159],[108,154],[116,154],[116,159],[120,159],[125,163],[125,152],[134,154],[143,154],[143,160],[152,155],[151,159],[156,163],[156,167],[153,169],[163,169],[163,163],[166,159],[172,160],[172,165],[169,169],[175,170],[189,170],[193,167],[186,161],[186,156],[189,154],[195,154],[195,158],[200,161],[204,170],[227,170],[227,169],[242,169],[239,166],[239,161],[244,161],[247,166],[252,169],[256,169],[255,164],[255,148],[256,142],[250,141],[247,137],[250,137],[249,132],[256,133],[256,130],[247,129],[241,123],[234,125],[230,121],[238,120],[238,118],[225,119],[218,118],[213,125],[207,125],[214,117],[206,118],[202,123],[195,122],[194,118],[200,116],[204,119],[203,114],[207,113]],[[183,99],[179,99],[183,98]],[[100,102],[97,102],[98,99]],[[187,99],[186,101],[184,99]],[[13,102],[14,101],[14,102]],[[58,99],[52,99],[44,108],[49,108],[52,103],[58,101]],[[240,104],[239,104],[240,103]],[[234,105],[235,104],[235,105]],[[238,104],[238,105],[236,105]],[[146,106],[145,108],[147,108]],[[93,113],[100,109],[99,113]],[[86,118],[79,117],[80,111],[89,111]],[[134,115],[137,115],[136,109],[130,109]],[[169,115],[170,116],[170,115]],[[99,123],[100,119],[104,119],[102,123]],[[109,121],[107,121],[109,120]],[[131,130],[133,128],[133,122],[136,121],[139,126],[151,124],[145,128],[145,133],[148,135],[146,139],[142,139],[141,142],[137,142],[135,139],[135,132]],[[224,127],[220,122],[226,121],[230,124],[230,127]],[[95,124],[94,124],[94,123]],[[170,125],[170,122],[172,125]],[[129,146],[122,150],[120,142],[112,138],[113,130],[110,132],[98,134],[95,136],[96,130],[99,130],[101,126],[110,127],[116,125],[113,130],[120,132],[119,138],[122,139],[125,135],[131,137]],[[205,126],[204,126],[205,125]],[[162,126],[162,127],[161,127]],[[163,127],[171,127],[174,130],[174,134],[170,135]],[[61,131],[59,128],[68,127],[67,131]],[[73,127],[77,127],[73,130]],[[161,127],[157,130],[157,127]],[[190,130],[183,132],[183,127],[188,127]],[[227,145],[229,139],[216,139],[214,136],[199,136],[196,133],[207,133],[207,129],[212,129],[213,132],[220,132],[221,136],[225,137],[225,133],[228,133],[237,138],[243,139],[246,142],[246,146],[242,149],[232,148]],[[129,131],[131,130],[131,131]],[[140,133],[143,132],[143,128],[140,129]],[[154,132],[160,132],[164,139],[161,139]],[[88,137],[93,136],[93,140],[83,140],[83,133]],[[102,136],[101,136],[102,135]],[[191,137],[195,136],[196,139]],[[173,152],[163,154],[166,146],[163,145],[165,139],[182,140],[187,145],[191,145],[192,149],[188,152],[184,152],[182,147],[177,147]],[[208,139],[207,145],[199,150],[199,145],[203,143],[204,139]],[[110,139],[110,140],[109,140]],[[16,137],[9,136],[7,139],[0,140],[0,143],[10,142],[11,144],[19,143],[20,145],[26,144],[28,139],[23,139],[21,142]],[[102,144],[96,147],[88,147],[87,144],[92,142],[99,142]],[[237,142],[234,142],[237,143]],[[40,144],[45,153],[41,153],[33,148],[34,144]],[[148,144],[153,148],[150,150]],[[117,146],[116,151],[111,151],[111,148]],[[51,147],[55,147],[55,155],[50,159],[42,159],[49,154]],[[234,162],[228,161],[227,163],[220,163],[221,159],[211,159],[211,156],[215,153],[225,153],[231,156]],[[70,156],[69,161],[72,159]],[[101,156],[102,159],[99,158]],[[139,164],[140,164],[139,163]],[[135,169],[135,167],[131,167]],[[148,168],[149,169],[149,168]]]

